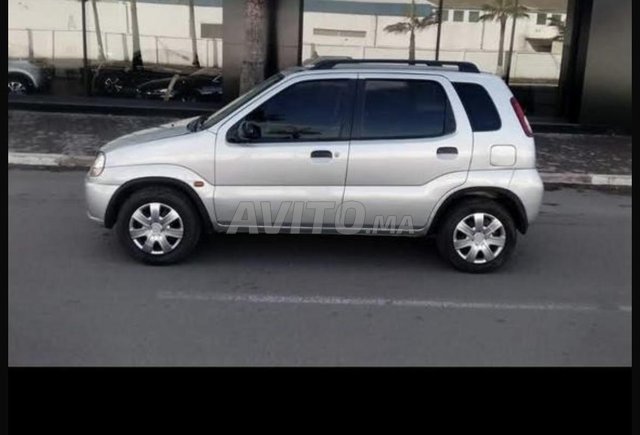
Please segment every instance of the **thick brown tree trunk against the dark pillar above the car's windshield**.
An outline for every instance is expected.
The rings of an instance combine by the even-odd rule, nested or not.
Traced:
[[[240,72],[240,93],[264,80],[267,58],[267,0],[246,0],[244,59]]]

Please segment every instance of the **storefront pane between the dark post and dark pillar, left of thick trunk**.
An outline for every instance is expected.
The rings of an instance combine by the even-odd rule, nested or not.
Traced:
[[[93,95],[220,101],[220,0],[90,0],[85,7]]]

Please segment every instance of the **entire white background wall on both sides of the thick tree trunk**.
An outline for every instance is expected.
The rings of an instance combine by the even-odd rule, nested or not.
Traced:
[[[123,0],[98,1],[103,47],[109,60],[128,60],[132,56],[130,2]],[[54,60],[82,60],[82,3],[79,0],[9,0],[9,57],[29,55],[29,32],[33,55]],[[87,2],[87,49],[90,59],[97,59],[98,48],[91,2]],[[442,25],[441,58],[469,60],[489,72],[496,71],[499,25],[495,22],[449,21]],[[221,7],[195,8],[198,55],[203,66],[222,65],[222,40],[202,38],[201,23],[222,23]],[[354,58],[404,58],[407,56],[409,35],[384,31],[385,26],[403,17],[347,15],[320,12],[304,13],[303,59],[311,56],[312,44],[320,55],[346,55]],[[142,57],[145,62],[191,63],[189,38],[189,9],[184,5],[138,2],[138,20]],[[359,30],[361,37],[314,35],[315,28]],[[437,27],[431,26],[416,34],[416,56],[433,59]],[[507,24],[505,49],[509,47],[511,21]],[[557,79],[560,74],[561,45],[555,44],[552,53],[536,53],[526,37],[545,38],[556,34],[555,28],[537,25],[536,15],[518,20],[512,77]]]

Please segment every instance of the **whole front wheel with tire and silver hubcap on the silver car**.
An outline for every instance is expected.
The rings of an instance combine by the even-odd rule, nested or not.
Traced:
[[[167,187],[147,187],[125,200],[115,229],[133,258],[165,265],[178,263],[191,254],[200,240],[202,222],[183,193]]]

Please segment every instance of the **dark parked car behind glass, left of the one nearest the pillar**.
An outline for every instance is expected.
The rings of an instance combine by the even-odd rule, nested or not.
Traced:
[[[92,89],[97,95],[113,97],[136,97],[139,85],[150,80],[171,79],[176,74],[188,75],[194,68],[167,65],[144,65],[132,68],[126,62],[110,62],[97,65],[92,71]]]

